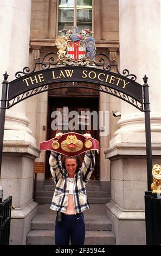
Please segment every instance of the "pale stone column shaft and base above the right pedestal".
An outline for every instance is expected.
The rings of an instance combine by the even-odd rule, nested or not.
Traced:
[[[161,132],[159,4],[159,0],[119,1],[120,71],[128,69],[136,74],[140,84],[143,84],[145,74],[149,77],[152,132]],[[115,135],[145,132],[144,113],[122,101],[118,126]]]

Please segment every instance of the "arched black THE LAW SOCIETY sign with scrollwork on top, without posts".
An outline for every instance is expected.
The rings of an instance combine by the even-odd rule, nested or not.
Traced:
[[[111,72],[112,66],[117,67],[117,65],[111,64],[106,54],[96,54],[96,57],[99,57],[98,63],[83,66],[54,62],[54,54],[56,53],[47,53],[42,62],[35,63],[33,71],[29,72],[30,69],[25,67],[22,72],[16,73],[16,80],[11,81],[8,85],[7,108],[27,97],[42,93],[44,90],[88,87],[117,96],[140,111],[144,111],[143,86],[135,81],[137,77],[130,75],[128,70],[123,71],[125,75],[121,75],[119,71]],[[50,56],[48,63],[44,62],[48,56]],[[36,66],[41,66],[41,70],[35,71]],[[50,66],[54,66],[54,68],[50,68]],[[59,87],[57,87],[57,83],[61,83]],[[90,86],[90,83],[95,84],[95,87]],[[53,86],[49,87],[50,84]]]

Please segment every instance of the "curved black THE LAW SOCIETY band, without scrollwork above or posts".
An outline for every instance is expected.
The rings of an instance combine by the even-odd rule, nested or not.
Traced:
[[[55,67],[36,71],[17,78],[9,83],[8,107],[24,100],[25,97],[32,96],[34,92],[36,94],[48,90],[47,86],[49,84],[63,83],[61,86],[62,88],[69,86],[69,84],[66,85],[65,82],[75,81],[78,83],[84,82],[84,84],[94,83],[97,85],[97,87],[95,87],[96,90],[117,95],[143,111],[143,86],[129,78],[110,71],[82,66]],[[81,87],[82,85],[70,84],[70,87],[74,86]],[[40,88],[41,90],[36,90],[37,88]],[[88,88],[90,88],[90,86],[88,86]],[[55,86],[53,85],[52,89],[57,89],[56,84]],[[16,97],[18,97],[18,100]]]

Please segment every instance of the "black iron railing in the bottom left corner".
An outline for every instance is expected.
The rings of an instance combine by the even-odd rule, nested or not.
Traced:
[[[12,197],[0,203],[0,245],[9,245]]]

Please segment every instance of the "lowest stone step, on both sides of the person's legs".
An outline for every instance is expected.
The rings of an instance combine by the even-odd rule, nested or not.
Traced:
[[[54,245],[53,230],[33,230],[27,235],[27,245]],[[86,231],[85,245],[114,245],[112,231]]]

